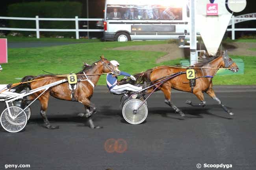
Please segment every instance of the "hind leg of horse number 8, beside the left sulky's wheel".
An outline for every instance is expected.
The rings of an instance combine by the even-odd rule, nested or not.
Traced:
[[[44,95],[42,95],[41,97],[39,97],[39,101],[41,103],[41,109],[40,109],[40,114],[44,120],[44,126],[47,129],[58,129],[59,126],[53,126],[50,124],[50,122],[47,119],[47,115],[46,115],[46,110],[48,108],[48,101],[49,101],[49,97],[50,97],[50,92],[46,92]]]

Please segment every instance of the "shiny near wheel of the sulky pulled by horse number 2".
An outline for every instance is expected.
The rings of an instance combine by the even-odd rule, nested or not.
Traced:
[[[145,103],[142,103],[143,102],[138,99],[132,99],[124,104],[122,115],[128,123],[140,124],[145,121],[148,115],[148,108]],[[135,111],[140,105],[141,107]]]

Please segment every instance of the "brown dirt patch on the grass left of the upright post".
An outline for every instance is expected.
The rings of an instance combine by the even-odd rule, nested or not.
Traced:
[[[157,44],[157,45],[143,45],[143,46],[127,46],[113,48],[113,50],[133,50],[133,51],[161,51],[167,53],[163,57],[156,60],[156,63],[174,60],[176,58],[184,58],[184,51],[179,48],[177,44]]]

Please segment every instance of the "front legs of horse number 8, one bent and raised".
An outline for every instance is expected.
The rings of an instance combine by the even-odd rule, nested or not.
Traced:
[[[93,120],[91,119],[91,116],[96,113],[96,108],[94,105],[91,103],[91,101],[87,98],[83,98],[82,101],[79,101],[82,104],[84,104],[85,107],[85,113],[79,113],[78,116],[80,117],[86,117],[88,118],[88,122],[90,124],[90,128],[92,129],[98,129],[102,128],[101,126],[95,126],[93,123]]]

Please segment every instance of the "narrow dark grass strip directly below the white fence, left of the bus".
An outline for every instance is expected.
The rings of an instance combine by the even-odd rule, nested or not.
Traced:
[[[35,38],[35,37],[13,37],[6,36],[0,38],[7,38],[7,42],[31,42],[31,41],[43,41],[43,42],[99,42],[100,39],[76,39],[76,38]]]

